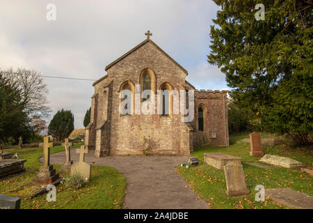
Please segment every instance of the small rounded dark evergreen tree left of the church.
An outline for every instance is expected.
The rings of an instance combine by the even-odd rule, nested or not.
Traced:
[[[57,141],[67,138],[74,130],[74,115],[71,111],[59,110],[48,126],[48,134],[56,137]]]

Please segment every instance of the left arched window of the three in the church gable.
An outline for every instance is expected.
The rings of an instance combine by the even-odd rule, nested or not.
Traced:
[[[120,87],[120,114],[134,114],[134,84],[131,82]]]

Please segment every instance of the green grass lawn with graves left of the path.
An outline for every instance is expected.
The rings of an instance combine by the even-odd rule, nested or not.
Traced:
[[[80,146],[76,144],[75,146]],[[24,167],[31,169],[22,176],[0,180],[0,193],[7,195],[24,195],[26,191],[16,188],[23,187],[35,178],[36,172],[42,165],[39,157],[42,157],[42,148],[7,149],[7,152],[18,153],[19,159],[26,159]],[[50,153],[64,151],[62,146],[55,146]],[[61,165],[54,165],[56,171]],[[61,176],[66,176],[61,174]],[[78,190],[67,189],[63,185],[56,187],[56,202],[47,202],[47,194],[34,199],[22,199],[21,208],[102,208],[118,209],[122,207],[125,195],[126,180],[120,172],[112,167],[92,167],[91,180]]]

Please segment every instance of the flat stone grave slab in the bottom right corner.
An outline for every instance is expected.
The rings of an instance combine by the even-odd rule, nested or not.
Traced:
[[[313,209],[313,197],[289,188],[266,189],[265,196],[294,209]]]

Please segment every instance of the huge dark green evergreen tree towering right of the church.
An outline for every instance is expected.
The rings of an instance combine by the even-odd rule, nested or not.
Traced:
[[[214,0],[221,10],[211,26],[209,63],[226,75],[231,97],[264,130],[308,144],[312,134],[312,1]],[[255,118],[254,118],[255,119]]]

